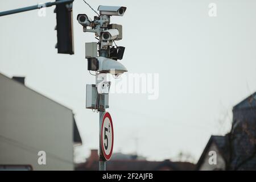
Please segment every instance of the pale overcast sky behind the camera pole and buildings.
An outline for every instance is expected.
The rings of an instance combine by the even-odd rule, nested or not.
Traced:
[[[0,1],[0,11],[35,5],[35,0]],[[217,16],[208,15],[209,3]],[[159,98],[146,94],[110,94],[114,152],[150,160],[175,159],[180,151],[195,162],[210,138],[223,135],[232,107],[256,90],[256,1],[91,1],[126,6],[122,24],[126,51],[121,62],[129,73],[159,73]],[[0,72],[26,76],[26,85],[73,110],[84,143],[76,160],[98,148],[98,114],[85,109],[85,86],[95,80],[87,71],[85,42],[76,16],[96,15],[82,1],[73,3],[75,55],[57,54],[54,7],[0,17]],[[224,121],[224,125],[220,124]],[[138,147],[136,147],[138,138]]]

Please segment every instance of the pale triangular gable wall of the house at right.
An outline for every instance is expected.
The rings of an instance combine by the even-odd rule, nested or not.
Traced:
[[[217,155],[216,164],[209,164],[209,158],[211,156],[211,155],[209,155],[210,151],[216,151],[216,155]],[[212,145],[209,147],[209,150],[205,154],[204,161],[201,164],[199,170],[200,171],[213,171],[216,169],[225,170],[225,160],[222,158],[220,152],[218,151],[216,144],[212,143]]]

